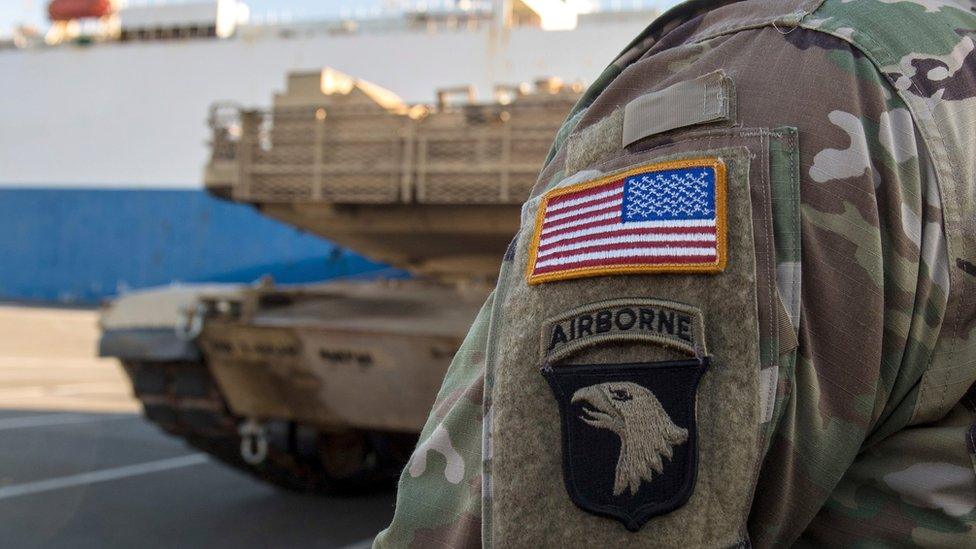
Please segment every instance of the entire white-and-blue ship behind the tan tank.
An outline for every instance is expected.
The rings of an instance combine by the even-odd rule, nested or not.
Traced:
[[[52,0],[50,29],[0,29],[0,300],[382,269],[207,195],[210,106],[267,108],[289,73],[323,67],[408,103],[592,82],[655,13],[588,1],[385,0],[385,14],[286,21],[238,0]]]

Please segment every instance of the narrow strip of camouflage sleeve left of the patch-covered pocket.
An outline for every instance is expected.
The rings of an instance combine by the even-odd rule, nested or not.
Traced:
[[[481,543],[482,397],[493,296],[454,357],[400,476],[396,512],[373,547],[477,547]]]

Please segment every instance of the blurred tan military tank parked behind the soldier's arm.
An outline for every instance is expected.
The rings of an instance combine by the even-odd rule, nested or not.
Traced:
[[[145,416],[276,485],[358,493],[399,474],[579,98],[555,79],[430,105],[332,69],[269,110],[216,104],[207,190],[409,272],[176,287],[102,315]]]

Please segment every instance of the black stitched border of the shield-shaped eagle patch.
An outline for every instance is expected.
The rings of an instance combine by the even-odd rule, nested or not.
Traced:
[[[710,356],[703,356],[695,359],[688,360],[669,360],[663,362],[632,362],[632,363],[622,363],[622,364],[566,364],[561,366],[548,366],[542,369],[542,375],[546,378],[549,383],[549,387],[552,389],[553,393],[556,395],[556,406],[559,407],[558,413],[560,416],[559,426],[560,426],[560,439],[561,439],[561,458],[563,464],[563,484],[565,485],[566,492],[569,494],[569,499],[572,502],[587,513],[592,513],[606,518],[616,519],[620,521],[627,530],[630,532],[637,532],[647,523],[648,520],[670,513],[675,509],[683,506],[691,498],[692,493],[695,491],[695,484],[698,482],[698,387],[701,385],[701,380],[708,371],[708,367],[711,364]],[[626,375],[634,370],[666,370],[669,368],[701,368],[701,374],[698,376],[698,380],[695,382],[692,390],[692,414],[690,423],[688,424],[688,464],[686,466],[685,481],[680,490],[678,490],[674,496],[668,500],[660,503],[654,504],[644,504],[637,507],[634,511],[626,511],[619,506],[615,505],[603,505],[597,504],[589,501],[589,499],[583,496],[577,489],[573,479],[575,478],[572,473],[571,463],[568,459],[570,452],[570,429],[569,422],[572,417],[570,414],[564,413],[561,409],[561,402],[566,398],[559,385],[556,383],[556,378],[560,374],[557,370],[572,370],[572,373],[583,374],[583,375],[593,375],[596,377],[599,375],[601,379],[608,379],[614,374]]]

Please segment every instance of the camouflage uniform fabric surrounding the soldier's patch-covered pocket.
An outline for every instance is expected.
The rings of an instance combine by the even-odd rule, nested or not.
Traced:
[[[976,276],[965,267],[976,262],[976,8],[716,4],[667,14],[603,73],[533,195],[600,173],[565,173],[569,135],[640,94],[725,70],[739,126],[779,128],[768,132],[769,185],[774,204],[799,208],[771,209],[775,269],[757,272],[787,322],[759,321],[759,367],[776,388],[749,541],[973,546]],[[638,147],[709,131],[721,130]],[[514,257],[448,373],[376,546],[491,545],[491,402],[496,373],[513,367],[493,341],[504,327],[499,296],[521,283]]]

